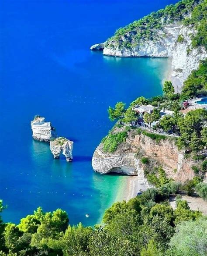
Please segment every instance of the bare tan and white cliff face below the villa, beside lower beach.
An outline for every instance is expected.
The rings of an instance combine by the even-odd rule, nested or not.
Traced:
[[[140,178],[147,182],[143,175],[144,166],[137,156],[138,151],[162,165],[168,178],[185,181],[194,176],[191,169],[193,162],[184,158],[172,139],[157,143],[143,134],[131,136],[130,132],[126,143],[121,144],[114,153],[103,153],[103,145],[100,144],[93,154],[93,169],[102,174],[117,172],[140,175]]]

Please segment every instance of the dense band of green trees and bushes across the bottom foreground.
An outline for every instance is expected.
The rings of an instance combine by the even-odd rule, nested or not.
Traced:
[[[82,224],[68,225],[69,219],[65,211],[58,209],[53,213],[45,213],[41,207],[34,214],[23,218],[18,225],[0,221],[0,255],[180,255],[173,254],[173,241],[176,241],[176,236],[179,235],[176,227],[186,220],[197,221],[201,213],[190,210],[187,202],[180,199],[177,209],[173,210],[168,199],[178,187],[179,184],[170,181],[160,188],[150,188],[128,202],[114,203],[104,213],[104,225],[95,225],[93,228],[84,227]],[[0,201],[0,209],[1,206]],[[199,221],[196,223],[204,233],[203,224],[200,226]],[[205,240],[197,230],[190,241],[200,239],[199,245],[202,247]],[[185,234],[182,235],[185,240]],[[191,244],[184,244],[188,252]],[[202,249],[200,252],[203,253]],[[200,252],[193,255],[204,255]]]

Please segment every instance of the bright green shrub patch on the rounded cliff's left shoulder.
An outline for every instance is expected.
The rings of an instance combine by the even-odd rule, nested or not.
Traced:
[[[109,133],[107,137],[102,139],[103,151],[105,153],[113,153],[117,147],[126,141],[128,137],[127,132]]]

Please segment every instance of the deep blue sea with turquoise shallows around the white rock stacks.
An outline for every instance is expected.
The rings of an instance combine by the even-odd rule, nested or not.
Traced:
[[[167,59],[103,57],[90,46],[176,0],[2,0],[0,3],[0,199],[18,223],[38,206],[93,225],[126,177],[93,172],[93,151],[117,101],[162,93]],[[40,114],[74,141],[74,160],[54,160],[32,139]],[[122,182],[123,183],[123,182]],[[89,218],[85,214],[90,215]]]

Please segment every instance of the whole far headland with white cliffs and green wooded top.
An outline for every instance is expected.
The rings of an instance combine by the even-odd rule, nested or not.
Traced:
[[[205,8],[204,0],[182,0],[153,12],[117,29],[103,44],[103,55],[169,57],[170,80],[180,92],[191,71],[207,57]]]

